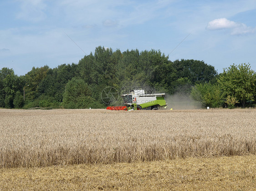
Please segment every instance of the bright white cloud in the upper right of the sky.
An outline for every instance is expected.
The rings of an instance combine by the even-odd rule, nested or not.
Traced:
[[[226,18],[220,18],[210,21],[206,29],[219,30],[219,29],[231,29],[232,35],[250,34],[255,33],[256,28],[248,27],[244,23],[238,23],[235,21],[228,20]]]

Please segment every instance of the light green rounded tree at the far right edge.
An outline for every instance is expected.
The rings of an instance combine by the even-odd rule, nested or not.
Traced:
[[[255,101],[256,73],[250,64],[231,65],[225,68],[218,79],[227,95],[234,96],[245,107],[246,102]]]

